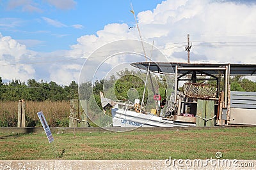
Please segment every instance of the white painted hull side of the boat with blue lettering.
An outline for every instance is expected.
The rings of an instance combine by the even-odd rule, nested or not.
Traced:
[[[134,111],[113,108],[112,119],[113,126],[117,127],[188,127],[195,124],[186,124],[181,122],[173,122],[172,120],[164,120],[156,115],[145,115]]]

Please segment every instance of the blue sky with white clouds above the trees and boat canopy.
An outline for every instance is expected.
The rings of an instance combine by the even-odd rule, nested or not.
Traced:
[[[79,81],[88,57],[94,57],[90,64],[102,62],[93,53],[97,49],[140,40],[131,4],[141,39],[154,41],[170,62],[187,61],[189,34],[191,62],[256,64],[252,0],[0,0],[1,78],[61,85]],[[108,51],[112,48],[108,45]],[[126,60],[109,60],[106,66]]]

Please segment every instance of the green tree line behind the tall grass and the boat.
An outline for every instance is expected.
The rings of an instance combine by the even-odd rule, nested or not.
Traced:
[[[129,72],[126,70],[126,72]],[[112,82],[110,84],[114,85],[115,87],[109,88],[113,90],[109,91],[109,96],[115,95],[118,99],[126,98],[128,99],[129,96],[127,96],[127,90],[134,88],[138,90],[138,94],[136,94],[136,97],[142,98],[143,93],[143,74],[141,73],[134,73],[136,75],[139,75],[142,78],[138,78],[138,76],[133,76],[131,72],[128,73],[122,73],[120,71],[119,77],[120,80],[116,80],[115,76],[111,78],[111,80],[108,80],[109,82]],[[127,74],[127,76],[124,76]],[[163,82],[164,78],[157,77],[157,83],[159,85],[159,90],[161,95],[164,96],[164,88],[166,88],[166,85],[162,85],[161,82]],[[82,83],[81,90],[84,90],[83,94],[85,96],[82,96],[84,99],[89,99],[90,95],[93,95],[96,98],[97,103],[100,104],[100,97],[99,97],[99,91],[103,90],[103,84],[108,85],[106,80],[99,80],[95,82],[86,82]],[[247,78],[244,78],[244,76],[233,76],[230,78],[230,85],[232,91],[248,91],[248,92],[256,92],[256,83],[252,80],[248,80]],[[92,90],[86,90],[90,87]],[[54,81],[50,81],[49,83],[46,81],[36,81],[35,79],[29,79],[26,83],[22,82],[20,80],[12,80],[8,83],[3,83],[2,78],[0,77],[0,99],[1,101],[17,101],[19,99],[25,99],[26,101],[67,101],[69,99],[78,99],[78,84],[76,81],[71,81],[69,85],[58,85]],[[138,96],[137,96],[138,95]],[[134,96],[134,95],[133,95]],[[133,100],[133,99],[132,99]]]

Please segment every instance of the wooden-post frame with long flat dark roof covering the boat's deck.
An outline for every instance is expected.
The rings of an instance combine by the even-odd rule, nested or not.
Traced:
[[[181,105],[179,98],[177,97],[179,82],[180,81],[191,81],[195,83],[196,81],[204,80],[215,80],[217,87],[217,96],[215,98],[215,104],[218,106],[218,111],[221,113],[217,114],[216,125],[228,125],[232,124],[230,117],[233,117],[232,114],[237,115],[237,111],[232,113],[232,98],[230,97],[230,76],[242,75],[249,76],[256,73],[256,64],[211,64],[211,63],[181,63],[181,62],[136,62],[131,64],[134,67],[139,69],[149,70],[154,73],[160,74],[172,74],[175,76],[174,83],[174,103],[178,107],[178,116],[179,111],[181,110]],[[204,78],[197,78],[197,76],[205,76]],[[189,77],[189,78],[188,78]],[[221,82],[223,82],[223,87],[221,89]],[[220,92],[222,94],[220,95]],[[247,98],[246,98],[247,99]],[[252,98],[250,98],[252,99]],[[256,99],[256,97],[255,97]],[[221,103],[221,104],[220,104]],[[231,109],[230,109],[231,108]],[[253,108],[241,108],[244,109],[244,115],[247,115],[248,112],[256,113],[256,106]],[[249,109],[249,110],[248,110]],[[231,111],[231,112],[230,112]],[[255,114],[256,117],[256,114]],[[235,124],[255,124],[254,122],[246,121],[250,117],[246,118],[243,115],[239,117],[241,120],[236,120]]]

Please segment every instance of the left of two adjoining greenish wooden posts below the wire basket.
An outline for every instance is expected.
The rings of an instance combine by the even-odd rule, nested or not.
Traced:
[[[197,108],[196,108],[196,126],[204,127],[205,120],[205,110],[206,110],[206,101],[198,99]]]

